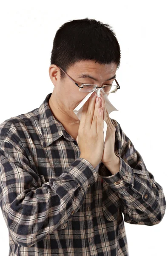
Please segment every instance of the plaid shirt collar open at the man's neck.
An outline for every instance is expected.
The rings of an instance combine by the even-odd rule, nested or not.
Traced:
[[[40,105],[38,113],[43,137],[43,147],[47,147],[55,140],[59,139],[62,135],[67,140],[74,140],[71,135],[65,131],[62,123],[53,116],[53,113],[48,105],[48,100],[51,97],[51,94],[52,93],[49,93],[46,96],[46,99]]]

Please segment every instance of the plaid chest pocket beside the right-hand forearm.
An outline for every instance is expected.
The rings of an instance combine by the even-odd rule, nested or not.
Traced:
[[[105,182],[103,182],[102,208],[108,221],[114,221],[119,215],[120,198],[118,193],[113,191]]]

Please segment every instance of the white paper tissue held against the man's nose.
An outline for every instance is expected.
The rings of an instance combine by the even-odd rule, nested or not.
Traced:
[[[78,117],[78,119],[81,119],[81,115],[82,115],[82,110],[83,110],[83,105],[85,104],[85,102],[88,100],[88,98],[91,96],[92,93],[96,92],[97,93],[97,97],[100,97],[100,92],[102,91],[104,99],[105,99],[105,103],[106,103],[106,109],[108,111],[108,114],[110,114],[112,111],[118,111],[117,108],[115,108],[111,102],[108,99],[107,94],[104,92],[103,88],[98,88],[96,90],[94,90],[91,93],[88,93],[85,98],[83,99],[82,102],[80,102],[80,104],[74,109],[74,113],[75,115]],[[103,133],[104,133],[104,148],[105,148],[105,137],[106,137],[106,131],[107,131],[107,123],[105,122],[105,120],[103,120]]]

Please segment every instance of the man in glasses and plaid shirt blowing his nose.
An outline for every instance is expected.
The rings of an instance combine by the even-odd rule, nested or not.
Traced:
[[[103,95],[92,93],[81,120],[73,112],[96,87],[107,94],[120,88],[119,64],[120,46],[107,25],[87,18],[65,23],[51,54],[53,92],[40,108],[0,125],[9,256],[126,256],[124,221],[151,226],[162,220],[162,186],[110,119]]]

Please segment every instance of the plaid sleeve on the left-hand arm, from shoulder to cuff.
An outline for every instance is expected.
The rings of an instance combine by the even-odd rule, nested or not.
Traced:
[[[20,245],[30,247],[65,224],[96,180],[93,166],[79,157],[59,177],[45,182],[31,168],[15,131],[0,140],[0,207]]]

